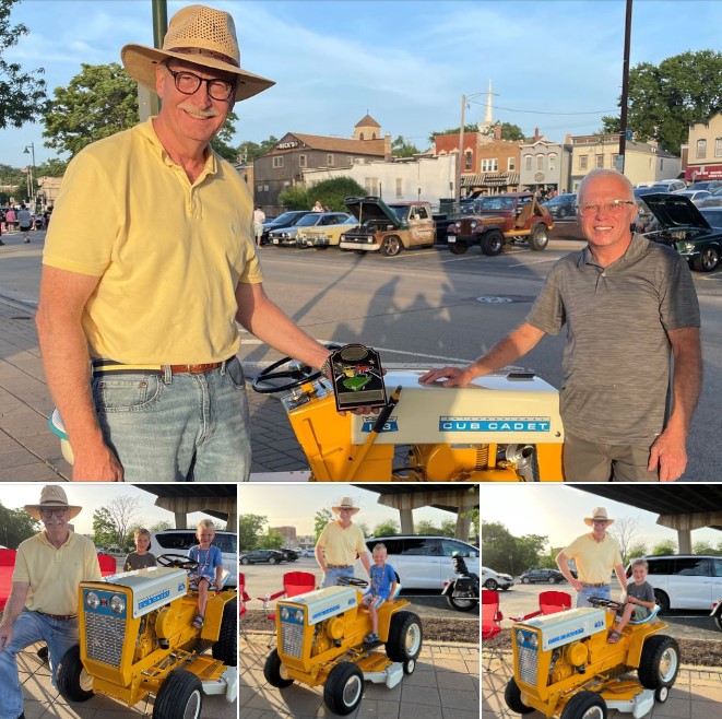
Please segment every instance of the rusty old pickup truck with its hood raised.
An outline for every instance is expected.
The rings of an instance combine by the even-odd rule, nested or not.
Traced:
[[[431,247],[436,227],[428,202],[390,202],[378,197],[346,198],[344,204],[359,222],[341,235],[345,250],[381,252],[395,257],[402,249]]]

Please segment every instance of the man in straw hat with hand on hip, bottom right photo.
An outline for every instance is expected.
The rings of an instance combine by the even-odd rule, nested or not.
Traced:
[[[622,591],[627,589],[619,543],[606,533],[614,519],[607,517],[605,507],[594,507],[591,517],[584,517],[584,523],[592,528],[591,533],[578,537],[557,555],[559,570],[577,591],[577,606],[591,606],[590,597],[611,599],[609,576],[613,569]],[[576,579],[569,569],[569,559],[577,564]]]

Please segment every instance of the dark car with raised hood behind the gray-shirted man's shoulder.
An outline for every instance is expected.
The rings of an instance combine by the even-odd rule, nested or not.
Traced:
[[[691,200],[679,192],[638,198],[636,231],[674,247],[695,270],[711,272],[722,256],[722,232],[712,229]]]

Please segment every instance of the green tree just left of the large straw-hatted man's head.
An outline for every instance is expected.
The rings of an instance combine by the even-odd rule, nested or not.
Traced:
[[[81,63],[67,87],[56,87],[43,115],[45,145],[76,155],[85,145],[138,123],[138,86],[117,62]]]

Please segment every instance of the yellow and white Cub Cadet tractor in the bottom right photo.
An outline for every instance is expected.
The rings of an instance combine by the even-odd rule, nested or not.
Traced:
[[[592,598],[594,608],[547,614],[511,627],[514,675],[505,699],[518,714],[537,709],[546,717],[605,719],[607,709],[643,717],[666,702],[679,670],[679,647],[659,634],[659,608],[630,622],[617,644],[608,644],[619,602]],[[605,611],[606,610],[606,611]],[[636,669],[638,680],[625,677]]]

